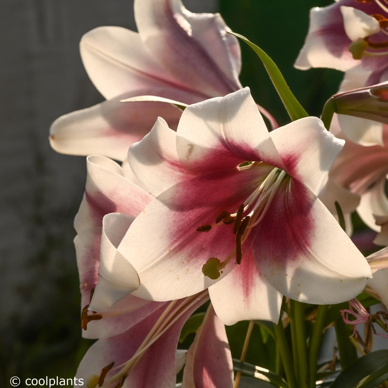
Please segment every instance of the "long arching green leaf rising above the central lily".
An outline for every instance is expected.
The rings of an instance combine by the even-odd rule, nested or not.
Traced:
[[[245,36],[236,34],[231,31],[227,32],[234,36],[237,36],[237,38],[240,38],[243,42],[249,45],[253,49],[253,51],[255,51],[258,57],[262,60],[264,67],[267,70],[267,73],[270,76],[270,79],[274,84],[274,87],[276,88],[276,91],[279,94],[279,97],[281,98],[283,105],[286,108],[291,120],[294,121],[303,117],[307,117],[307,112],[303,109],[303,107],[300,105],[298,100],[291,92],[290,88],[286,83],[286,80],[284,80],[284,77],[280,72],[279,68],[276,66],[275,62],[272,61],[272,59],[262,49],[260,49],[260,47],[250,42],[247,38],[245,38]]]

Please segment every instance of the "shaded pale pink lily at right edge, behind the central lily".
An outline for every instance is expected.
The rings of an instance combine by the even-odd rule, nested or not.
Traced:
[[[334,116],[331,132],[340,139],[346,139]],[[356,119],[359,120],[359,119]],[[388,199],[385,193],[385,181],[388,174],[388,125],[383,124],[383,147],[369,147],[346,141],[329,173],[327,187],[319,197],[335,214],[334,201],[343,206],[345,217],[352,211],[357,213],[372,230],[379,235],[375,244],[387,245],[388,229],[385,227],[388,217]],[[350,219],[350,218],[349,218]]]

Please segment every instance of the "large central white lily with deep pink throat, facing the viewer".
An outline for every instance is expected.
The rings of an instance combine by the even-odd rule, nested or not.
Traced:
[[[356,296],[371,271],[317,198],[343,141],[308,117],[268,132],[244,88],[159,118],[128,160],[156,198],[118,251],[133,295],[173,300],[209,288],[225,324],[277,322],[282,294],[308,303]]]

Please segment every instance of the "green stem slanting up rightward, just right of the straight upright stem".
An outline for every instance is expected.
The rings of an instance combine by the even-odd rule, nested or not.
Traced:
[[[310,349],[308,355],[308,369],[310,372],[308,386],[309,388],[315,388],[315,381],[317,379],[317,364],[320,343],[322,340],[322,331],[324,329],[325,315],[329,305],[318,306],[317,316],[313,327],[313,332],[310,338]]]

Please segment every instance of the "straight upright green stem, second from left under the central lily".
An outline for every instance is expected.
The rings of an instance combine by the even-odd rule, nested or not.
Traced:
[[[305,330],[305,305],[303,303],[294,301],[294,315],[296,324],[296,345],[298,348],[300,388],[307,388],[307,343]]]

